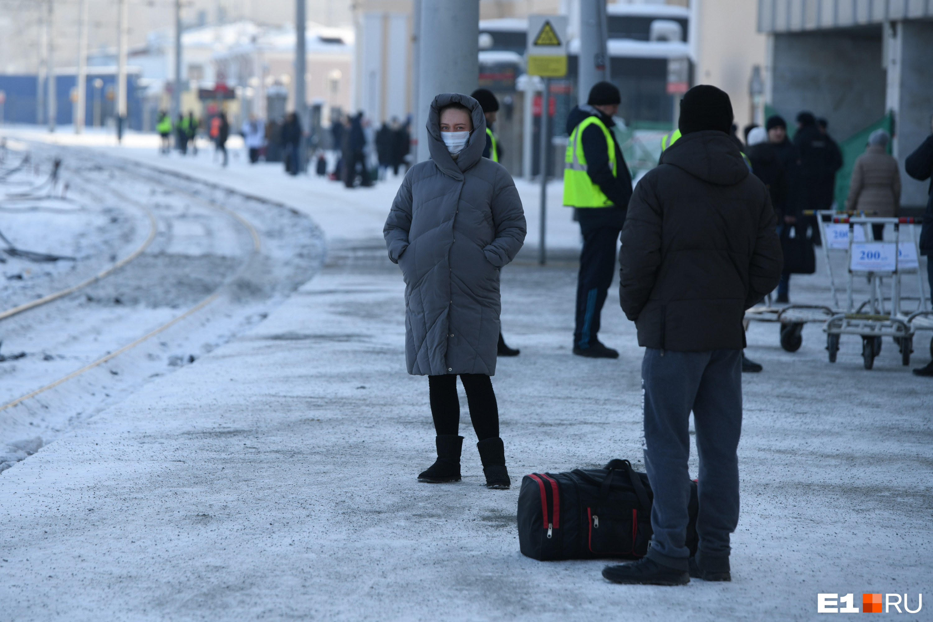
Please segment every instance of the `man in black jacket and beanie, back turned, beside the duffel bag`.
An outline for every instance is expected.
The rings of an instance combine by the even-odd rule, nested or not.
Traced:
[[[607,566],[610,581],[682,585],[730,580],[739,518],[745,310],[783,268],[768,189],[729,136],[732,106],[716,87],[684,95],[681,138],[638,183],[622,228],[620,302],[645,346],[645,463],[654,491],[648,555]],[[700,453],[700,545],[686,546],[689,415]]]

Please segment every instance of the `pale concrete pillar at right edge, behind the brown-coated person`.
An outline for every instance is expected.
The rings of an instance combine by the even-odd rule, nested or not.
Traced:
[[[885,65],[887,88],[885,109],[894,112],[895,134],[892,153],[900,165],[900,204],[920,208],[926,205],[929,182],[919,182],[904,172],[904,159],[911,155],[930,133],[933,114],[933,23],[891,21],[885,24]]]

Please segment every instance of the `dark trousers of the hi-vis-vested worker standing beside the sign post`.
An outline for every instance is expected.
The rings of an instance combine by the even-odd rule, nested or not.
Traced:
[[[616,270],[616,242],[621,228],[584,227],[577,280],[577,326],[574,347],[589,348],[597,340],[599,318]]]

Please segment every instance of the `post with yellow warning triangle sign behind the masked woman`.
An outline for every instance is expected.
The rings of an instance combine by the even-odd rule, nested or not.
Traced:
[[[541,92],[541,152],[539,169],[541,175],[541,214],[538,227],[537,263],[547,262],[545,238],[548,216],[548,152],[550,145],[550,77],[567,75],[567,18],[564,15],[528,16],[528,60],[529,76],[544,78]]]

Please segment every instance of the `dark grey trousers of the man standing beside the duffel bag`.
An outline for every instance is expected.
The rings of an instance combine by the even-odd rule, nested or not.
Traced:
[[[736,449],[742,432],[742,351],[673,352],[648,348],[642,362],[642,389],[645,465],[654,491],[654,535],[648,557],[665,566],[688,570],[687,461],[692,410],[700,457],[697,561],[703,570],[729,570],[729,534],[739,521]]]

